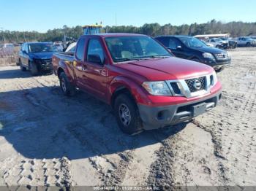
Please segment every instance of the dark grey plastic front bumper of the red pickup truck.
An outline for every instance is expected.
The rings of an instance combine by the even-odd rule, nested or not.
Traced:
[[[189,101],[184,104],[176,104],[169,106],[146,106],[138,104],[143,128],[145,130],[164,128],[174,125],[179,122],[191,120],[198,114],[208,112],[217,106],[222,92],[219,91],[214,95],[209,95],[206,98],[200,98],[196,101]],[[204,105],[204,111],[195,112],[195,107]]]

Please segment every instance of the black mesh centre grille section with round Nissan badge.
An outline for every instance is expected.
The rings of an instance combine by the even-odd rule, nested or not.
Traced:
[[[187,83],[191,93],[206,89],[206,77],[185,79],[185,82]]]

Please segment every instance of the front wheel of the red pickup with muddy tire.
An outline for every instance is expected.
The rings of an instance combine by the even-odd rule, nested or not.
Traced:
[[[143,130],[138,106],[131,96],[118,95],[114,104],[114,113],[118,126],[124,133],[132,135]]]

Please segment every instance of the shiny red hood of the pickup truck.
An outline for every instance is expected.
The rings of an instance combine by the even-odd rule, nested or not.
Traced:
[[[210,66],[203,63],[175,57],[119,63],[117,66],[146,77],[148,81],[187,79],[213,72]]]

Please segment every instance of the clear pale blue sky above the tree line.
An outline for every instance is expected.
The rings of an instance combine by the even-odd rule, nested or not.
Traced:
[[[0,30],[39,31],[83,26],[256,22],[256,1],[238,0],[0,0]]]

